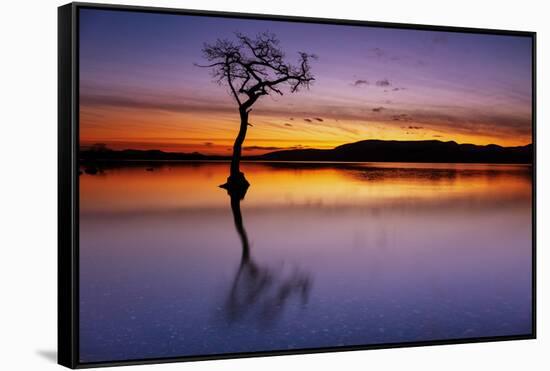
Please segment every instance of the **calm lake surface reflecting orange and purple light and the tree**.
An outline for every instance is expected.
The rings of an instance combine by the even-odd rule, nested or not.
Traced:
[[[82,362],[531,333],[531,167],[128,164],[80,176]]]

